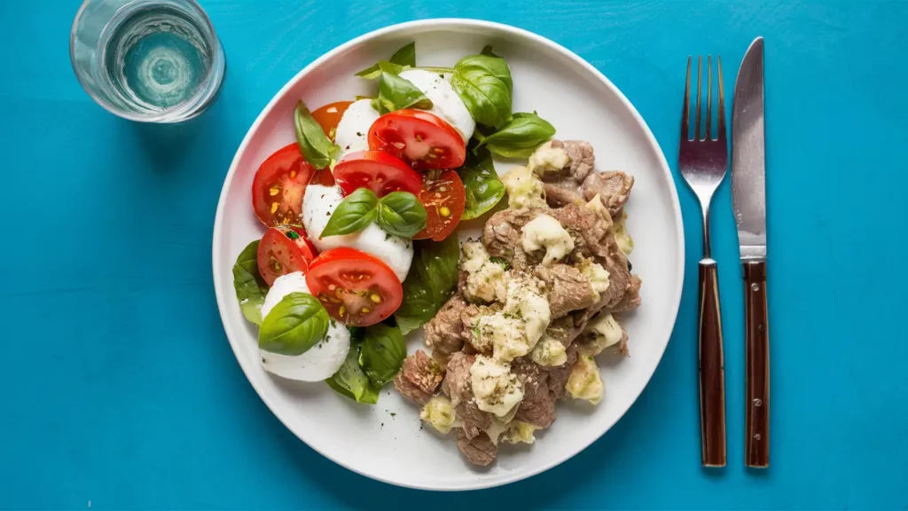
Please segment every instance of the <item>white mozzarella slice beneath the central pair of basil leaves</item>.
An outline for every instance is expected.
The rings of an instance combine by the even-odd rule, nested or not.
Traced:
[[[388,265],[400,282],[407,278],[413,262],[413,244],[410,240],[392,235],[372,222],[365,229],[351,235],[337,235],[319,238],[328,225],[334,209],[341,204],[343,194],[340,186],[309,185],[302,199],[302,225],[306,235],[319,252],[349,246],[377,257]]]

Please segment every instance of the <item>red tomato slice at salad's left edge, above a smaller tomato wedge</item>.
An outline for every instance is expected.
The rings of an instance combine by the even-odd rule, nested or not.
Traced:
[[[302,195],[314,172],[295,142],[268,156],[252,180],[252,207],[262,224],[301,225]]]

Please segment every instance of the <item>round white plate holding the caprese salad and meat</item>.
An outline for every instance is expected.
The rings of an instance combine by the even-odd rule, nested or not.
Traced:
[[[317,107],[372,95],[375,83],[353,74],[416,41],[419,65],[454,65],[493,45],[511,65],[514,111],[533,111],[562,140],[589,141],[597,170],[621,169],[637,179],[627,205],[634,236],[630,259],[643,279],[643,305],[627,316],[631,356],[600,361],[606,396],[598,406],[561,402],[558,420],[538,432],[532,446],[503,445],[489,468],[469,466],[452,436],[419,424],[419,408],[392,386],[377,406],[336,395],[322,383],[294,383],[270,376],[259,363],[256,328],[244,320],[232,284],[232,266],[243,247],[262,236],[252,213],[252,177],[262,161],[295,140],[292,112],[298,99]],[[498,165],[503,172],[507,165]],[[681,211],[665,156],[643,119],[615,85],[566,48],[539,35],[489,22],[437,19],[372,32],[331,50],[308,65],[274,96],[240,145],[214,219],[214,288],[224,330],[243,372],[271,411],[322,455],[364,476],[394,485],[466,490],[508,484],[576,455],[614,425],[646,386],[675,324],[684,273]],[[421,334],[408,339],[409,352]]]

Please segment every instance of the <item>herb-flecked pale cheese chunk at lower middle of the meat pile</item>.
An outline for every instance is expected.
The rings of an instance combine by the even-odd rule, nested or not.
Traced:
[[[523,387],[508,364],[478,355],[469,368],[469,376],[476,405],[484,412],[507,416],[523,400]]]

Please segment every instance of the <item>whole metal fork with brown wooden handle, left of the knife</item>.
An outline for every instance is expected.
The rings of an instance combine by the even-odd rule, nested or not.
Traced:
[[[689,138],[690,67],[687,57],[687,80],[684,89],[684,109],[681,114],[681,144],[678,148],[678,168],[687,185],[700,201],[703,212],[703,258],[699,271],[699,379],[700,379],[700,436],[703,466],[725,466],[725,364],[722,350],[722,314],[719,310],[719,282],[716,260],[709,246],[709,204],[728,167],[728,144],[725,138],[725,93],[722,86],[722,58],[716,55],[719,112],[716,138],[712,138],[710,123],[713,113],[712,56],[706,56],[706,131],[700,138],[700,85],[703,77],[703,56],[696,57],[696,121],[695,137]]]

